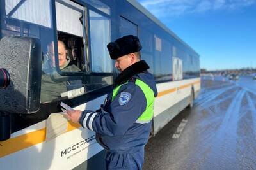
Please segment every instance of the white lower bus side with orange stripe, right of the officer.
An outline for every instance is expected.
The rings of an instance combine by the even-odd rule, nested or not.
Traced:
[[[154,105],[154,134],[190,104],[193,92],[198,95],[200,78],[157,84],[159,95]]]

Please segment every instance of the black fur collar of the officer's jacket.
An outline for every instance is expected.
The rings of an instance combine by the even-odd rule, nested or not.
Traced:
[[[124,84],[130,78],[132,78],[132,76],[134,76],[135,74],[146,71],[147,69],[149,69],[149,66],[145,62],[145,60],[140,60],[139,62],[132,64],[116,77],[114,87],[116,87],[117,85]]]

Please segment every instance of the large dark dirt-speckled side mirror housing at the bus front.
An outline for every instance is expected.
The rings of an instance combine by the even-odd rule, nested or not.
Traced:
[[[10,73],[10,85],[0,89],[0,112],[35,113],[40,108],[41,46],[36,38],[0,40],[0,67]]]

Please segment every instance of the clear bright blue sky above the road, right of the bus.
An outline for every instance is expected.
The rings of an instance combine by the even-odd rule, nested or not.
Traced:
[[[256,68],[256,0],[137,0],[207,70]]]

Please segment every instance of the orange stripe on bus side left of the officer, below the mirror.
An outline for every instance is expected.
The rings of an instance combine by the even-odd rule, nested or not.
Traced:
[[[73,122],[68,122],[67,132],[77,129],[79,127],[81,127],[81,125],[74,124]],[[45,141],[45,136],[46,128],[43,128],[34,132],[29,132],[27,134],[22,134],[20,136],[10,138],[6,141],[1,141],[0,158],[14,152],[18,152],[30,146],[36,145],[38,143],[42,143]]]

